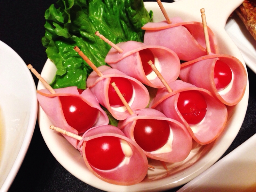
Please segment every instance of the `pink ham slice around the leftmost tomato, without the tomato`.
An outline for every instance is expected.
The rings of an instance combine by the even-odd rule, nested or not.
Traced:
[[[68,125],[63,111],[61,107],[61,102],[59,96],[73,96],[73,97],[80,97],[84,102],[90,105],[93,108],[97,108],[99,110],[98,118],[93,126],[99,125],[107,125],[109,120],[106,113],[100,107],[98,101],[92,94],[90,89],[86,89],[80,95],[77,91],[77,87],[66,87],[55,89],[55,94],[51,94],[47,89],[42,89],[37,91],[37,99],[44,110],[45,114],[50,119],[51,123],[56,127],[61,127],[62,129],[72,132],[74,134],[78,134],[78,131]],[[62,134],[75,148],[77,148],[78,141],[74,138],[71,138],[65,134]]]

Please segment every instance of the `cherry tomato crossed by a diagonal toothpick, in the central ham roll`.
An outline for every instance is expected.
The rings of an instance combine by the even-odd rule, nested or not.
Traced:
[[[133,93],[133,88],[131,82],[123,77],[111,77],[110,84],[108,87],[108,99],[109,99],[109,104],[112,107],[120,107],[124,106],[122,103],[121,99],[117,95],[115,89],[111,85],[111,83],[115,82],[116,86],[124,96],[124,99],[127,101],[127,103],[132,99],[132,93]]]

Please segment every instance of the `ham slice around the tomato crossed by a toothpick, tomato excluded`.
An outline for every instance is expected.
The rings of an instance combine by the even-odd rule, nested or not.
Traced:
[[[112,108],[110,106],[108,99],[108,87],[111,86],[109,85],[111,77],[123,77],[128,79],[132,83],[132,86],[134,88],[133,93],[135,93],[134,101],[132,102],[132,104],[129,103],[129,106],[132,110],[147,107],[149,102],[148,90],[137,79],[127,76],[123,72],[117,69],[110,68],[108,66],[100,66],[98,69],[101,71],[103,76],[100,77],[96,74],[96,72],[93,71],[87,78],[87,87],[91,89],[92,93],[95,95],[99,103],[103,107],[107,108],[115,119],[124,120],[130,114],[124,106],[124,111],[122,112],[117,111],[115,108]]]

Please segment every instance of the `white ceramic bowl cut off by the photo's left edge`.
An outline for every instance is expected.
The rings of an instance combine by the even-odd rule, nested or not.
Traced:
[[[0,41],[0,192],[9,189],[30,144],[36,86],[25,62]]]

